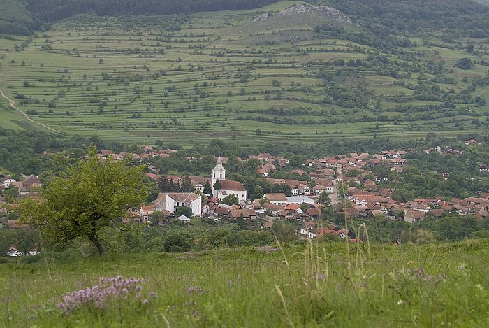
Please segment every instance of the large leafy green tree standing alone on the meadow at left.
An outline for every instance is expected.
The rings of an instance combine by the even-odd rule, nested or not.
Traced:
[[[54,178],[39,197],[22,201],[22,219],[38,224],[60,248],[85,236],[103,254],[101,228],[117,226],[129,208],[147,197],[143,169],[129,159],[101,160],[91,148],[87,161],[80,160],[66,175]]]

